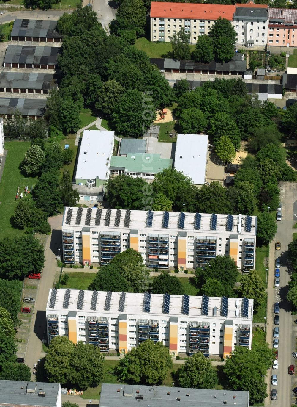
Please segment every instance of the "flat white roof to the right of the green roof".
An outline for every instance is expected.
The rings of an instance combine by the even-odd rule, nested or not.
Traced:
[[[207,146],[206,134],[178,134],[174,168],[188,175],[193,184],[205,182]]]

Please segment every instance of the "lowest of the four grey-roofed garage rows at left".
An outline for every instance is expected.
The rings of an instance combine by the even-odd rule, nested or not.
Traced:
[[[13,114],[18,110],[22,116],[43,116],[46,99],[0,98],[0,114]]]

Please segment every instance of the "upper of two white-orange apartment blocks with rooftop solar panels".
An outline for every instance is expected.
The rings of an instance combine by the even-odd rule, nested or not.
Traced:
[[[65,208],[63,259],[68,264],[106,265],[130,247],[151,269],[203,267],[226,254],[239,269],[250,271],[256,228],[255,216]]]

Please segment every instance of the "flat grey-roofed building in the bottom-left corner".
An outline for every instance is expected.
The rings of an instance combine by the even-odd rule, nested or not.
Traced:
[[[44,392],[45,396],[39,396]],[[39,383],[16,380],[1,380],[1,403],[19,406],[56,407],[60,392],[58,383]]]

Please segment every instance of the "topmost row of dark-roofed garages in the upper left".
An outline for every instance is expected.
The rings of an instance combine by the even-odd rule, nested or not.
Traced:
[[[52,20],[15,20],[11,37],[62,38],[56,31],[56,21]]]

